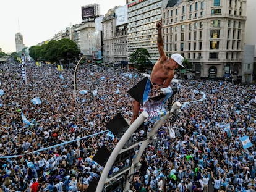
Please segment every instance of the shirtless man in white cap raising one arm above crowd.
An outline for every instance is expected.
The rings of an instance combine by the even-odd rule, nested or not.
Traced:
[[[184,58],[177,53],[172,54],[170,58],[166,56],[166,53],[163,49],[162,19],[160,22],[156,23],[156,28],[158,30],[157,46],[160,56],[153,67],[150,81],[153,84],[153,88],[160,89],[169,86],[174,76],[174,69],[177,69],[179,65],[184,67],[182,65]],[[133,115],[130,123],[133,123],[134,120],[137,119],[139,115],[139,109],[140,103],[134,100]]]

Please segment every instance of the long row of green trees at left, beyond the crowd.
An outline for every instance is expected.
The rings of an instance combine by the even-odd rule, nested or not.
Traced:
[[[60,59],[73,59],[79,56],[80,50],[77,44],[69,39],[59,41],[51,40],[41,46],[30,47],[30,57],[35,61],[43,60],[49,62],[59,62]]]

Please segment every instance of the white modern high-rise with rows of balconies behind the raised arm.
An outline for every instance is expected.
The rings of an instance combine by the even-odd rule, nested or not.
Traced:
[[[156,44],[156,22],[161,19],[161,0],[135,0],[128,2],[128,57],[138,48],[145,48],[153,64],[159,54]]]

